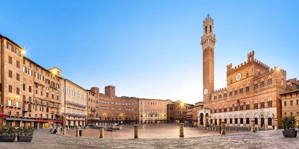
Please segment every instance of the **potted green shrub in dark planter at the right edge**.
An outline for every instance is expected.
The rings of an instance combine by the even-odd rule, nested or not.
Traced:
[[[295,130],[295,117],[294,116],[284,116],[282,118],[282,125],[284,127],[284,137],[288,138],[296,138],[297,137],[297,131]]]

